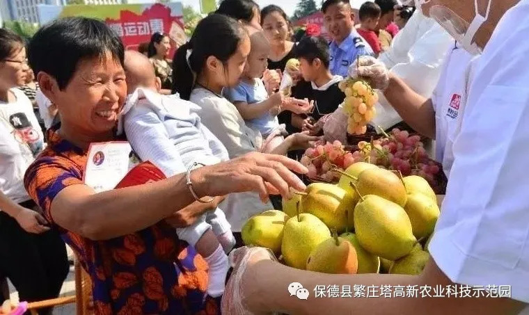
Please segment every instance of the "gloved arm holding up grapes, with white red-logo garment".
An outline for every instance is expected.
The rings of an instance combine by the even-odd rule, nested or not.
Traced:
[[[437,86],[429,99],[422,97],[408,86],[404,80],[384,69],[379,60],[363,57],[360,65],[369,64],[374,69],[377,65],[381,73],[377,72],[374,80],[383,74],[383,84],[377,88],[384,92],[386,100],[400,114],[406,124],[409,124],[423,136],[436,140],[435,159],[443,165],[443,172],[449,178],[450,169],[454,161],[452,144],[457,137],[459,126],[466,104],[468,83],[471,81],[472,67],[479,56],[473,56],[454,42],[448,50],[447,58]],[[474,60],[474,62],[473,62]],[[358,66],[352,65],[350,72],[357,76]],[[368,76],[368,74],[363,74]]]

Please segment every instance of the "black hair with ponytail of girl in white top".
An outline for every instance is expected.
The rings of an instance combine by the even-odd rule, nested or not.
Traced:
[[[189,100],[207,58],[214,56],[221,63],[228,63],[245,34],[242,25],[226,15],[212,14],[198,22],[189,42],[173,58],[173,93]]]

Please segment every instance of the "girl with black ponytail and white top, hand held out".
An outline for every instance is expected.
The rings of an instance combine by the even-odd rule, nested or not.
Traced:
[[[173,61],[175,92],[198,105],[200,120],[221,140],[230,158],[264,152],[260,133],[246,126],[237,108],[222,96],[223,88],[239,83],[249,53],[250,39],[244,26],[235,19],[214,14],[198,23],[191,40],[178,49]],[[268,153],[286,154],[287,150],[307,147],[308,141],[314,140],[318,138],[294,134]],[[233,232],[240,232],[250,216],[272,209],[269,202],[263,204],[253,193],[232,201],[239,208],[226,213]]]

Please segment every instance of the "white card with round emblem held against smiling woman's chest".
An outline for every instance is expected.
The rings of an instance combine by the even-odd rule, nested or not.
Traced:
[[[84,184],[97,193],[110,191],[139,163],[128,142],[92,143],[84,172]]]

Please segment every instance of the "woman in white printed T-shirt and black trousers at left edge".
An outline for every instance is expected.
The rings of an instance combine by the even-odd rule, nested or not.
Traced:
[[[27,69],[22,38],[0,29],[0,273],[21,301],[34,302],[58,296],[69,266],[61,237],[24,189],[24,172],[45,145],[29,98],[14,88]]]

